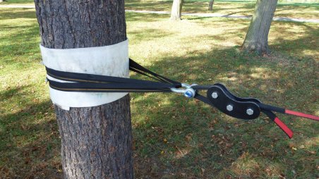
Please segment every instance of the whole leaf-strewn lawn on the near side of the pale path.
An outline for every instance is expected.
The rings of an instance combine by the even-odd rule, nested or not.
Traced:
[[[259,57],[239,51],[249,20],[168,18],[126,13],[131,58],[174,80],[222,82],[239,96],[319,115],[317,24],[273,22],[272,54]],[[38,31],[34,9],[1,8],[0,178],[61,177]],[[318,177],[315,121],[279,115],[295,132],[289,140],[265,116],[239,121],[176,94],[132,93],[131,109],[136,178]]]

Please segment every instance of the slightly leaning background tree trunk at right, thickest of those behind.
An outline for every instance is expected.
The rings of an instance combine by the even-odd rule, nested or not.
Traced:
[[[268,54],[268,33],[278,0],[258,0],[248,32],[243,41],[243,49],[258,54]]]

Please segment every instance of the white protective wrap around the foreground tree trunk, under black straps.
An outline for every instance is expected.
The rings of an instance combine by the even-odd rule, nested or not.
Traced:
[[[40,45],[44,66],[54,70],[129,78],[128,40],[104,47],[48,49]],[[57,80],[47,75],[49,80]],[[52,102],[62,109],[107,104],[127,92],[62,92],[51,87]]]

